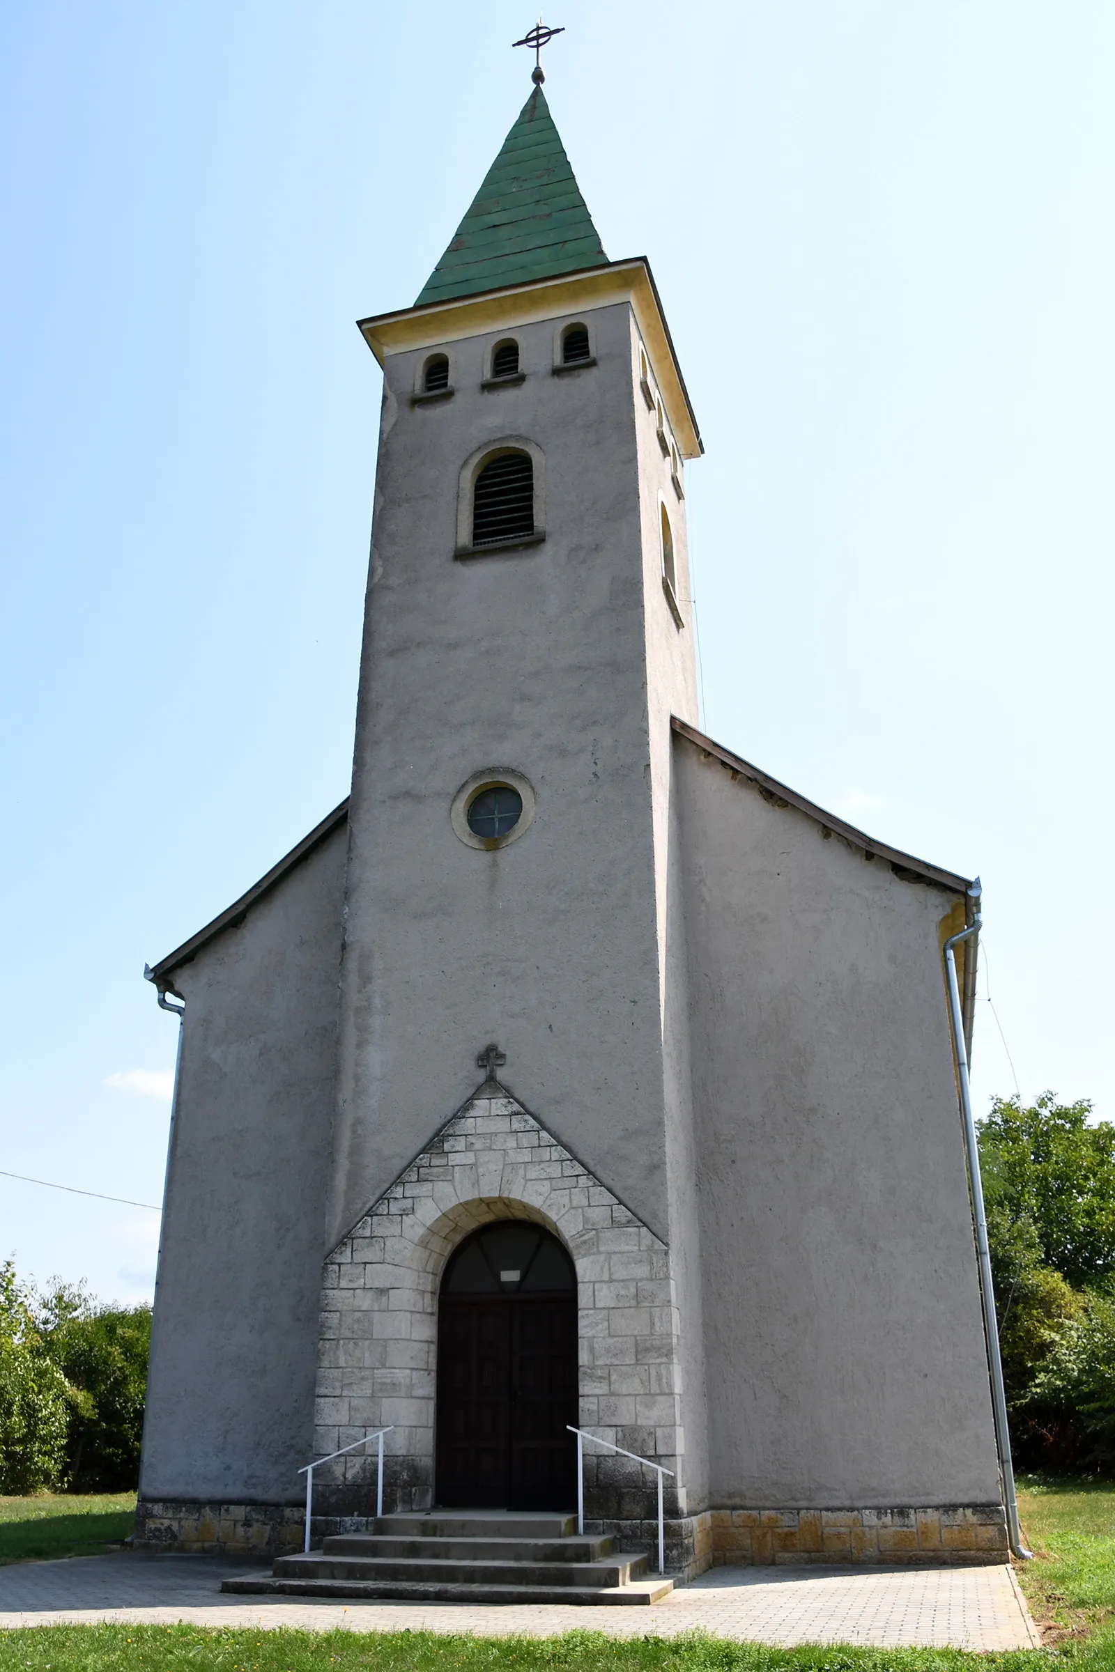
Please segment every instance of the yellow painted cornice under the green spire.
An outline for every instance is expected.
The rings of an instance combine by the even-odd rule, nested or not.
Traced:
[[[445,303],[425,303],[421,308],[374,314],[371,319],[359,319],[358,324],[368,348],[383,366],[389,354],[435,348],[513,324],[558,319],[562,314],[580,313],[583,308],[605,308],[608,303],[630,303],[682,456],[699,458],[704,453],[700,430],[645,256],[610,261],[607,268],[563,273],[557,279],[535,279],[532,284],[481,291],[480,296],[460,296]]]

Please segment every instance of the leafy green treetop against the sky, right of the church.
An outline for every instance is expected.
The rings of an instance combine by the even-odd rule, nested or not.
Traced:
[[[996,1097],[980,1125],[988,1224],[1030,1226],[1040,1264],[1073,1289],[1115,1277],[1115,1125],[1088,1125],[1090,1114],[1053,1092],[1030,1109]]]

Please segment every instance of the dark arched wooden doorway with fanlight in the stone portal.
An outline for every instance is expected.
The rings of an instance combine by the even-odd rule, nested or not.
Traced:
[[[498,1221],[456,1249],[438,1302],[436,1501],[577,1501],[577,1277],[548,1231]]]

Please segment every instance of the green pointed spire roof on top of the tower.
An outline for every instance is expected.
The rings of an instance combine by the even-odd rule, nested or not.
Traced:
[[[607,259],[535,87],[415,306],[602,268]]]

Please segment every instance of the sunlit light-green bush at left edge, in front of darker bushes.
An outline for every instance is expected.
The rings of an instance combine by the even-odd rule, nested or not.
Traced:
[[[72,1389],[43,1351],[32,1296],[0,1266],[0,1493],[55,1486],[65,1468]]]

